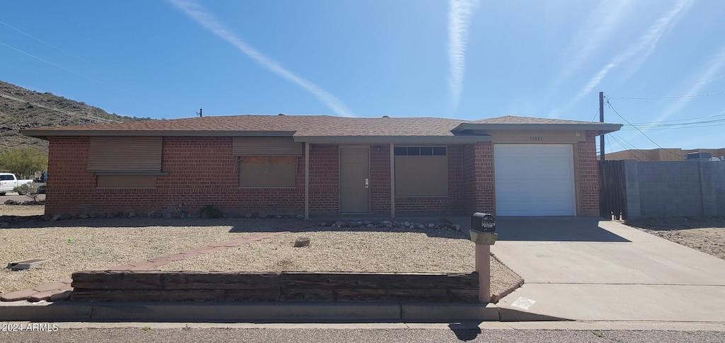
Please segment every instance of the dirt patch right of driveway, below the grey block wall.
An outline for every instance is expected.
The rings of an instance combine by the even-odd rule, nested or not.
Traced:
[[[725,260],[724,217],[637,219],[625,224]]]

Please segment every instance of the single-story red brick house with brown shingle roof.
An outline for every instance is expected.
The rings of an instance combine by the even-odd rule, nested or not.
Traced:
[[[369,133],[360,130],[364,126],[355,126],[346,131],[341,129],[344,125],[337,122],[339,118],[324,116],[208,117],[52,127],[25,130],[23,133],[42,137],[50,143],[47,214],[162,211],[175,215],[178,211],[194,213],[206,205],[217,206],[230,213],[289,213],[305,216],[341,213],[341,185],[344,180],[341,177],[340,151],[345,146],[362,147],[363,151],[368,152],[368,171],[363,192],[367,192],[365,196],[369,206],[364,213],[391,217],[421,213],[497,213],[497,179],[494,172],[497,156],[494,156],[494,145],[517,143],[519,138],[511,140],[510,137],[523,132],[525,137],[543,137],[542,140],[546,140],[544,143],[571,146],[574,160],[573,189],[576,192],[572,195],[576,202],[572,215],[598,216],[599,179],[595,137],[618,130],[617,124],[523,117],[500,117],[479,122],[429,118],[356,119],[344,118],[344,121],[367,125]],[[233,122],[239,122],[238,127],[230,124]],[[411,126],[409,130],[405,125],[411,124],[415,124],[415,127]],[[426,128],[426,125],[429,127]],[[232,130],[219,132],[220,129]],[[318,132],[328,130],[341,132],[335,136],[318,135]],[[568,138],[569,133],[575,131],[584,135],[577,133],[576,139]],[[356,135],[353,136],[353,133]],[[565,134],[565,138],[559,138]],[[294,158],[294,170],[290,172],[294,173],[294,185],[240,187],[240,177],[244,176],[240,176],[242,158],[234,153],[235,139],[247,135],[294,137],[290,138],[290,142],[294,140],[301,148],[299,156]],[[161,137],[157,172],[89,170],[90,161],[94,159],[92,140],[137,136]],[[526,139],[521,140],[523,142]],[[411,146],[416,153],[432,151],[432,148],[426,150],[427,146],[442,149],[439,152],[444,153],[444,156],[438,156],[438,161],[441,158],[447,161],[444,166],[447,175],[441,178],[447,177],[447,190],[439,190],[438,195],[396,194],[403,191],[402,185],[395,185],[394,164],[402,166],[405,161],[398,159],[394,149]],[[423,150],[418,146],[423,147],[420,148]],[[409,159],[415,160],[416,157]],[[133,160],[129,163],[133,163]],[[270,163],[269,160],[267,163]],[[421,170],[421,173],[425,171]],[[106,174],[122,180],[138,174],[141,178],[150,178],[151,184],[125,187],[123,181],[120,181],[119,187],[100,187],[99,179]],[[407,180],[398,177],[398,183],[402,182]]]

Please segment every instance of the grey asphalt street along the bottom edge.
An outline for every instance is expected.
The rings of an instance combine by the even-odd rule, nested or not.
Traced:
[[[0,332],[0,342],[725,342],[722,331],[513,329],[62,329]]]

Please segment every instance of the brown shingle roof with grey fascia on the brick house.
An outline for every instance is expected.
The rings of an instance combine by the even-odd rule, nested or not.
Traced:
[[[537,122],[544,121],[544,122]],[[492,121],[492,122],[486,122]],[[194,117],[186,119],[146,120],[119,124],[93,124],[67,127],[41,127],[22,130],[23,135],[46,138],[48,136],[129,136],[129,135],[175,135],[175,136],[286,136],[310,143],[339,142],[413,142],[416,140],[436,142],[480,142],[490,138],[486,135],[465,134],[472,125],[475,130],[505,129],[530,130],[522,125],[535,124],[537,130],[618,130],[620,124],[576,122],[560,119],[539,119],[506,116],[471,122],[461,119],[431,117],[401,118],[349,118],[331,116],[294,115],[240,115],[224,117]],[[594,125],[596,124],[596,125]],[[494,127],[495,126],[495,127]],[[566,127],[566,128],[565,128]],[[576,127],[573,128],[573,127]],[[609,131],[611,132],[611,131]]]

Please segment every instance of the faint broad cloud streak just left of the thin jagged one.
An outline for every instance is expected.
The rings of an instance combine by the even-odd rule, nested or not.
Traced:
[[[634,4],[634,1],[605,1],[595,7],[585,21],[584,27],[577,30],[578,34],[566,48],[565,55],[571,58],[557,75],[551,90],[558,89],[568,77],[587,62],[592,54],[609,41],[631,4]]]

